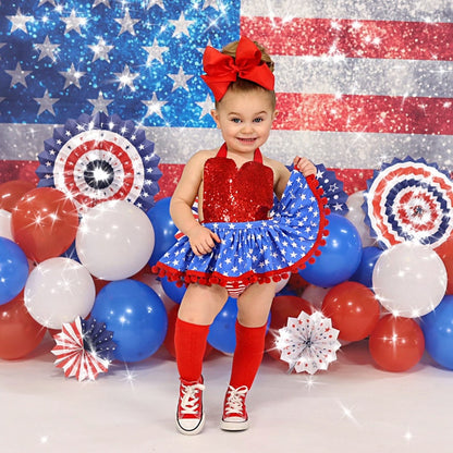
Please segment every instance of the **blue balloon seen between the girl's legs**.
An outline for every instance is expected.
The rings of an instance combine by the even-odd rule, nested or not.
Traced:
[[[229,297],[209,328],[208,343],[218,351],[233,354],[236,348],[237,301]],[[268,329],[270,315],[268,318]]]

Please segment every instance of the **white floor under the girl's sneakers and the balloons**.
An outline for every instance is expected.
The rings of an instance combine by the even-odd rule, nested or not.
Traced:
[[[313,379],[266,357],[248,396],[253,425],[232,433],[218,428],[231,358],[216,353],[204,370],[205,430],[187,437],[174,428],[177,378],[166,351],[77,382],[53,366],[52,346],[46,338],[29,358],[0,360],[2,453],[453,451],[453,371],[429,357],[387,372],[363,341]]]

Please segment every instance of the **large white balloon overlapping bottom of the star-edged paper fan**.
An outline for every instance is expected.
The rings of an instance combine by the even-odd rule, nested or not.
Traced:
[[[93,276],[122,280],[149,261],[155,231],[148,216],[125,200],[101,203],[82,218],[75,238],[81,262]]]

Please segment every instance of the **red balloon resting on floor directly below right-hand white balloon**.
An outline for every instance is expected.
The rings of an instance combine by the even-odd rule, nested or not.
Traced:
[[[382,317],[369,338],[369,352],[387,371],[406,371],[420,362],[425,336],[412,318]]]

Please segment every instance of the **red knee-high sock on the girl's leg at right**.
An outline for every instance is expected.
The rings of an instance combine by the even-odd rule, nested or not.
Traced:
[[[241,385],[252,387],[265,353],[266,328],[244,327],[236,322],[236,348],[230,385],[237,389]]]

